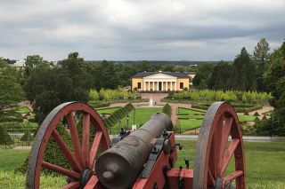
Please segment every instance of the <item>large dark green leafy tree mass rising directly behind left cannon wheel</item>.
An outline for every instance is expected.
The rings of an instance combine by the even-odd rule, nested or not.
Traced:
[[[70,53],[60,67],[36,67],[25,84],[27,98],[32,102],[41,123],[55,106],[68,101],[88,101],[91,76],[85,70],[84,59]]]

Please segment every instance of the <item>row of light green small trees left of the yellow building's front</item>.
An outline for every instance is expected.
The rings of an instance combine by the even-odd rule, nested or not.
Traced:
[[[101,89],[99,92],[96,90],[89,91],[90,100],[118,100],[118,99],[134,99],[137,96],[131,91],[119,91],[119,90],[109,90]]]

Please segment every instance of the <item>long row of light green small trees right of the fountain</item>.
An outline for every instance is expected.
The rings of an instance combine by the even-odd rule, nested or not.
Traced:
[[[230,101],[234,103],[249,103],[249,104],[265,104],[271,98],[270,93],[257,91],[212,91],[212,90],[195,90],[184,91],[181,93],[172,93],[167,98],[173,99],[188,99],[193,101]]]

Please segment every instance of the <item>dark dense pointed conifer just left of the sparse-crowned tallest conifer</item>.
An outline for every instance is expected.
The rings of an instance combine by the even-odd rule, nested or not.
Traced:
[[[241,91],[256,90],[256,67],[248,51],[243,47],[232,65],[232,89]]]

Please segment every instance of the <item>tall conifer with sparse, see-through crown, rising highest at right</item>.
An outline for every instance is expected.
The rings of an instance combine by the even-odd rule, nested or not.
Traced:
[[[265,73],[267,62],[270,57],[269,43],[267,43],[265,38],[262,38],[255,47],[253,51],[253,59],[256,63],[256,90],[265,91],[265,83],[263,75]]]

